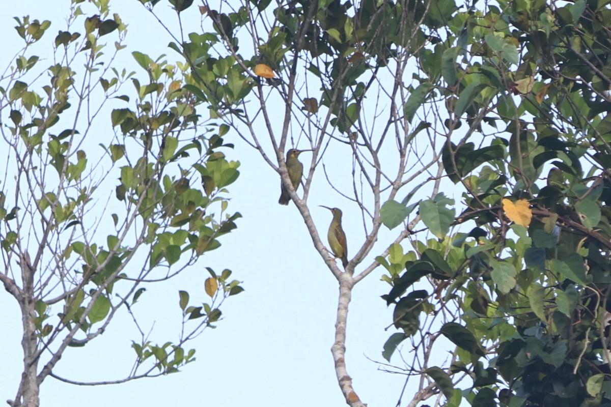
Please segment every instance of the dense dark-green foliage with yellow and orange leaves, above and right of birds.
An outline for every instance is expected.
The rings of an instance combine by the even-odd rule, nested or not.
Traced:
[[[200,6],[214,31],[171,46],[191,66],[194,94],[283,178],[287,135],[310,142],[304,198],[291,198],[321,254],[306,201],[315,164],[327,145],[352,152],[353,185],[339,189],[370,223],[368,239],[381,223],[401,231],[346,279],[386,268],[401,332],[384,356],[411,342],[411,405],[437,394],[451,406],[609,405],[608,2],[230,3]],[[283,123],[268,116],[273,101],[286,107]],[[429,199],[411,203],[427,188]],[[373,248],[368,239],[343,274]],[[456,352],[431,359],[448,341]]]

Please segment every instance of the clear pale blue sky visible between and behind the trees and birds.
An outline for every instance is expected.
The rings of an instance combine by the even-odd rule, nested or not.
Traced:
[[[69,4],[68,0],[4,2],[0,16],[3,38],[0,68],[4,69],[20,44],[13,29],[13,16],[31,15],[31,18],[53,22],[41,41],[48,52],[54,35],[65,27]],[[115,0],[111,8],[129,26],[126,43],[130,51],[145,52],[153,59],[167,54],[170,61],[178,60],[174,51],[167,48],[169,36],[138,1]],[[156,8],[162,13],[166,10],[168,15],[173,13],[166,1]],[[196,10],[193,13],[198,14]],[[109,38],[108,42],[111,41],[114,40]],[[41,49],[40,45],[37,49]],[[123,52],[122,55],[125,63],[136,70],[130,54]],[[111,131],[109,121],[108,128],[100,131]],[[277,204],[280,182],[277,174],[237,137],[228,136],[226,140],[236,144],[230,157],[241,162],[241,176],[230,186],[230,209],[243,214],[238,229],[222,238],[222,248],[200,259],[201,268],[194,267],[168,284],[150,287],[139,306],[148,308],[146,312],[141,309],[141,314],[149,316],[148,326],[155,321],[154,333],[164,337],[166,332],[174,333],[180,319],[177,291],[194,292],[199,287],[203,290],[203,280],[207,277],[203,267],[218,271],[230,268],[233,276],[244,282],[246,291],[225,302],[222,308],[225,319],[216,330],[207,331],[191,342],[197,348],[197,361],[181,373],[98,387],[71,386],[47,378],[42,385],[41,405],[345,405],[330,351],[334,340],[337,282],[313,249],[293,204],[288,207]],[[349,168],[349,157],[346,160]],[[321,171],[316,181],[325,182]],[[310,203],[324,237],[331,215],[326,209],[319,211],[315,205],[342,206],[345,202],[329,192],[328,187],[313,187]],[[359,212],[355,208],[343,209],[349,248],[356,250],[357,240],[362,238]],[[350,222],[351,215],[356,222]],[[388,242],[384,236],[392,235],[382,234],[381,241]],[[380,243],[375,252],[384,250],[384,244]],[[394,328],[384,331],[391,322],[391,310],[379,298],[388,290],[387,284],[379,281],[381,273],[382,270],[376,270],[356,286],[348,320],[348,372],[357,393],[372,407],[394,406],[404,381],[404,376],[379,372],[378,366],[367,359],[382,360],[382,345],[395,332]],[[0,291],[0,309],[3,350],[0,400],[3,402],[15,395],[22,356],[20,313],[4,290]],[[119,318],[87,347],[68,348],[56,373],[82,381],[125,376],[133,362],[132,337],[126,336],[125,331],[131,331],[131,325]],[[393,361],[400,363],[398,359]],[[404,400],[409,399],[410,393],[406,391]]]

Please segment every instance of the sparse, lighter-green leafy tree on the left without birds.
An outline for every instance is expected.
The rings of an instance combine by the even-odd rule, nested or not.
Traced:
[[[172,294],[177,332],[156,343],[139,325],[147,287],[236,228],[225,187],[239,163],[223,153],[229,128],[200,119],[183,71],[134,52],[143,71],[130,73],[117,58],[126,36],[119,15],[108,1],[80,3],[54,38],[51,21],[15,18],[23,48],[0,74],[0,281],[23,322],[13,407],[38,406],[48,376],[91,384],[54,368],[70,347],[101,339],[120,312],[134,322],[133,369],[104,384],[177,372],[195,359],[189,340],[242,290],[230,270],[208,268],[196,298]],[[34,54],[36,43],[49,54]]]

